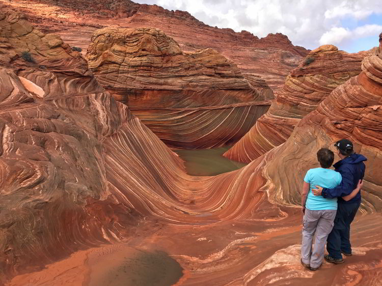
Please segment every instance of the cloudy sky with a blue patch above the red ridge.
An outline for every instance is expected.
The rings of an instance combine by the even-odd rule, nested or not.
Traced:
[[[135,0],[188,11],[210,26],[248,30],[258,37],[283,33],[294,45],[333,44],[368,50],[382,32],[382,0]]]

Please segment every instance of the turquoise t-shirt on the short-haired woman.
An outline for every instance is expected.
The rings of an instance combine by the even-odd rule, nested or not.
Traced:
[[[305,207],[310,210],[337,209],[337,198],[324,199],[322,196],[314,196],[312,188],[316,185],[326,188],[334,188],[341,183],[341,174],[324,168],[315,168],[308,170],[304,181],[310,184],[310,189]]]

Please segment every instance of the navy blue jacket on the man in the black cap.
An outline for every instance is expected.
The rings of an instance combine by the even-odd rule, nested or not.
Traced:
[[[339,204],[361,202],[361,192],[347,202],[341,197],[349,195],[357,187],[358,181],[364,178],[366,168],[363,163],[364,161],[367,161],[364,155],[354,153],[334,164],[335,171],[339,172],[342,176],[341,184],[335,188],[323,188],[322,197],[331,199],[338,197]]]

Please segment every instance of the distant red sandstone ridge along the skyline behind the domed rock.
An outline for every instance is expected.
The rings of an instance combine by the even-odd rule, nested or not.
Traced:
[[[260,75],[274,90],[282,87],[285,77],[308,53],[280,33],[259,39],[248,31],[236,33],[229,28],[208,26],[188,12],[169,11],[129,0],[5,3],[21,9],[42,31],[58,33],[70,45],[81,47],[84,54],[97,28],[156,27],[174,38],[182,50],[212,48],[221,52],[236,62],[242,72]]]

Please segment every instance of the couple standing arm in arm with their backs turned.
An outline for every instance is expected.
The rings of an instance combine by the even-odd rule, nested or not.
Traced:
[[[303,206],[303,242],[301,263],[310,270],[317,270],[323,258],[335,264],[343,263],[341,252],[351,256],[350,224],[361,204],[360,189],[365,175],[366,157],[353,151],[353,144],[342,139],[337,141],[338,156],[321,148],[317,159],[321,168],[308,170],[304,178],[301,197]],[[316,240],[312,251],[313,236]],[[325,243],[329,255],[324,256]]]

